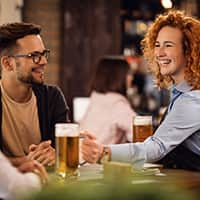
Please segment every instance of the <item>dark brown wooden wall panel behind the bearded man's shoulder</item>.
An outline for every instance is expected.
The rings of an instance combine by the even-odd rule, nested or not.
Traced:
[[[120,0],[63,0],[63,13],[60,85],[72,108],[73,97],[87,94],[99,57],[120,53]]]

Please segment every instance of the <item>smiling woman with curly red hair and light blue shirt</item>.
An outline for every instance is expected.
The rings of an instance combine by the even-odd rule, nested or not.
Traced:
[[[159,162],[166,167],[200,170],[200,22],[180,11],[157,17],[143,42],[159,87],[172,86],[167,115],[142,143],[103,147],[91,134],[82,145],[83,159]],[[120,117],[120,116],[119,116]],[[105,157],[104,157],[105,158]]]

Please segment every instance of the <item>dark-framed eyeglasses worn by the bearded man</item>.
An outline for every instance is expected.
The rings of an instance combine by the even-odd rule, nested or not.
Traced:
[[[41,59],[42,59],[42,56],[44,56],[46,58],[46,60],[48,61],[49,55],[50,55],[50,50],[49,49],[45,49],[43,52],[34,51],[34,52],[28,53],[28,54],[10,55],[8,57],[13,57],[13,58],[20,58],[20,57],[31,58],[33,60],[33,63],[39,64]]]

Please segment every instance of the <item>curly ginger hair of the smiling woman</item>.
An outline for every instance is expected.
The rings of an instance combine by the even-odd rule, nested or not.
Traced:
[[[164,26],[181,30],[183,50],[187,62],[185,80],[193,89],[200,89],[200,21],[194,17],[186,16],[184,12],[178,10],[158,15],[141,42],[144,58],[149,63],[150,71],[155,75],[157,86],[168,88],[173,83],[171,76],[163,76],[160,73],[160,68],[154,58],[156,38]]]

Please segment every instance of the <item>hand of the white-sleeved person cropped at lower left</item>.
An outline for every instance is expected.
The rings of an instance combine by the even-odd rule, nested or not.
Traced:
[[[48,181],[48,174],[44,166],[36,160],[29,160],[24,162],[18,167],[18,170],[22,173],[33,172],[37,174],[40,176],[42,183],[46,183]]]

